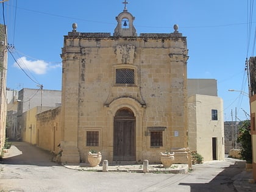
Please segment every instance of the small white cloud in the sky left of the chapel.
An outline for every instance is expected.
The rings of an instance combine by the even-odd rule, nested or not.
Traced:
[[[62,66],[60,64],[49,65],[49,63],[44,62],[43,60],[28,60],[27,57],[20,57],[16,61],[25,71],[30,71],[35,74],[46,74],[48,69],[59,68]],[[17,68],[20,68],[18,64],[15,62],[13,65]]]

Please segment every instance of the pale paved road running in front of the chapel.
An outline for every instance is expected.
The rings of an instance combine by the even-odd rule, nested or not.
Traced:
[[[13,144],[22,154],[2,160],[2,191],[229,192],[236,191],[233,181],[244,169],[244,162],[229,158],[194,165],[194,171],[188,174],[77,171],[51,162],[51,154],[35,146],[23,142]]]

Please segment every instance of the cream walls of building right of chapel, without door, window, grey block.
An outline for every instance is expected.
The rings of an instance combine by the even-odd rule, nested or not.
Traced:
[[[212,109],[218,110],[218,120],[212,120]],[[216,138],[217,160],[224,160],[223,101],[215,96],[196,94],[188,98],[188,145],[204,161],[213,160],[212,138]]]

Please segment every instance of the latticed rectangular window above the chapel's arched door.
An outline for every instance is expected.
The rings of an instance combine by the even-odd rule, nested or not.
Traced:
[[[134,69],[116,69],[116,84],[134,84]]]

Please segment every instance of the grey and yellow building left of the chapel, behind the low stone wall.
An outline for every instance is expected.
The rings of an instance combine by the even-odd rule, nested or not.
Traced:
[[[43,90],[42,88],[23,88],[18,92],[18,132],[15,138],[22,138],[23,141],[37,144],[37,119],[38,113],[56,108],[61,105],[62,91]]]

